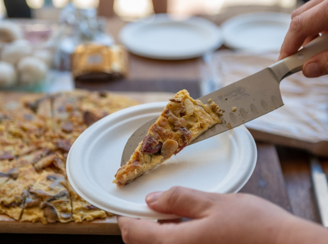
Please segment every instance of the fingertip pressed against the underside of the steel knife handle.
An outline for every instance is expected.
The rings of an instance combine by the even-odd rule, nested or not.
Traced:
[[[311,57],[303,66],[303,74],[308,78],[328,74],[328,51],[320,52]]]

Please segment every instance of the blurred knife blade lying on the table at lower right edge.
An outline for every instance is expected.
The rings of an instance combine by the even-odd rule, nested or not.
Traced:
[[[322,225],[328,228],[328,182],[325,173],[317,158],[313,157],[310,161],[311,176],[314,188],[316,203],[319,209]]]

